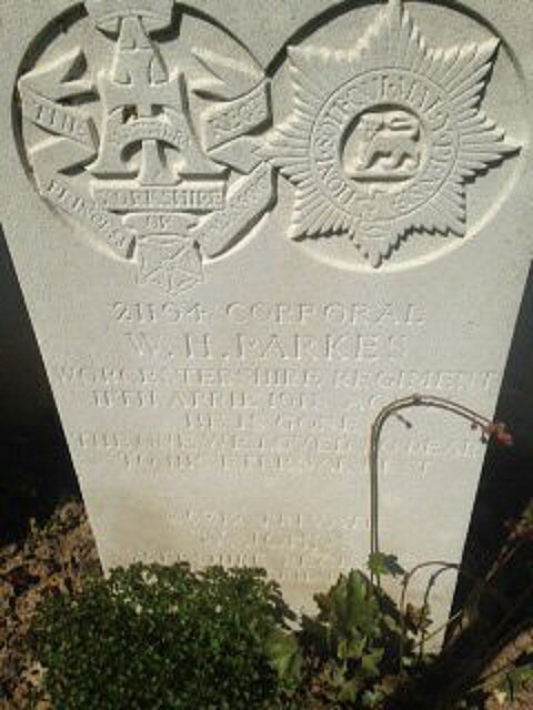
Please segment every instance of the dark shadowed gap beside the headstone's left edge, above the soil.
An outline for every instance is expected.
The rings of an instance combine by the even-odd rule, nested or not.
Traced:
[[[22,538],[79,488],[0,229],[0,544]]]

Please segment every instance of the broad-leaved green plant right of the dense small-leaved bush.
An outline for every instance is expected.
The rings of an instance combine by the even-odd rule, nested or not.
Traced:
[[[380,579],[403,574],[396,558],[381,554],[369,568]],[[314,599],[319,613],[303,617],[295,631],[278,630],[268,646],[285,689],[304,689],[324,707],[381,708],[404,677],[428,662],[414,655],[414,637],[404,638],[395,604],[362,571],[341,575]],[[400,653],[409,671],[399,669]]]

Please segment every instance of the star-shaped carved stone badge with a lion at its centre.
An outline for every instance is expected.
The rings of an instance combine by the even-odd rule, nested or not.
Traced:
[[[415,232],[462,237],[466,184],[520,146],[481,104],[499,40],[428,45],[390,0],[351,50],[290,48],[294,105],[261,155],[295,187],[290,236],[378,267]]]

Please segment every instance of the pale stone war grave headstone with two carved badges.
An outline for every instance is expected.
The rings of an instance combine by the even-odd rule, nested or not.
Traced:
[[[492,416],[532,28],[529,0],[2,2],[1,222],[107,569],[265,567],[309,609],[365,564],[380,409]],[[408,417],[381,548],[459,561],[485,448]]]

